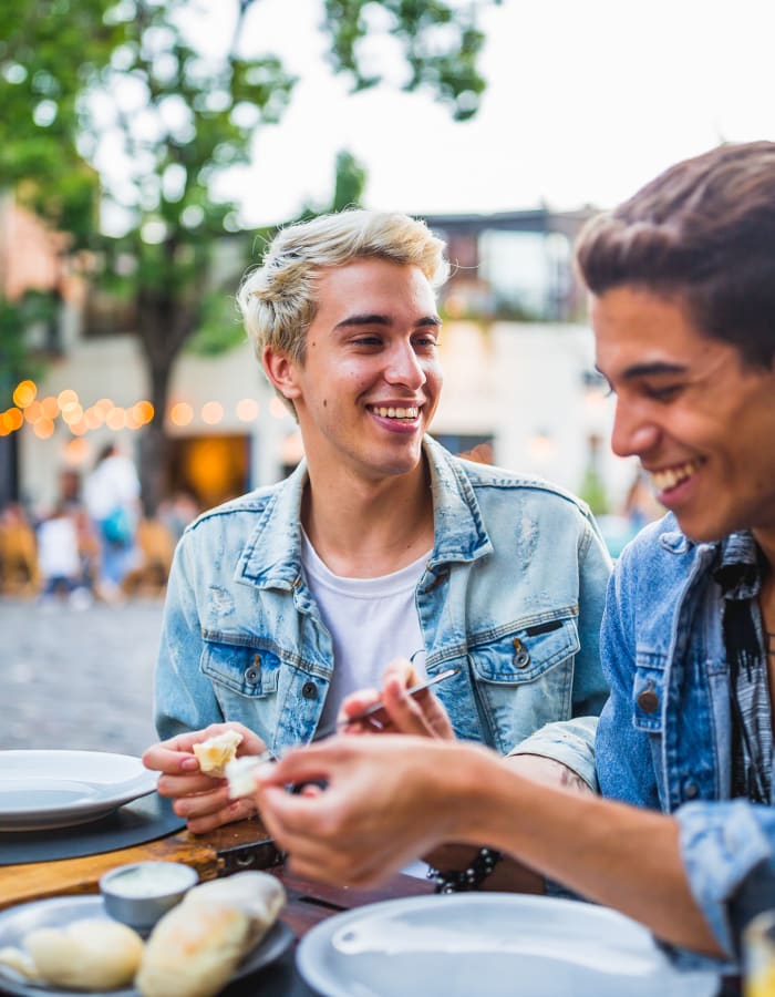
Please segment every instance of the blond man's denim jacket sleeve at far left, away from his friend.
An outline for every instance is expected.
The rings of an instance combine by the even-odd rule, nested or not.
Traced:
[[[213,683],[199,670],[203,641],[192,546],[190,534],[184,534],[167,584],[155,675],[155,723],[163,740],[224,720]]]

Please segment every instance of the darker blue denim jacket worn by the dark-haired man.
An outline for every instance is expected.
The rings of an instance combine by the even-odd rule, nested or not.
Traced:
[[[730,902],[743,903],[767,867],[766,875],[775,873],[775,808],[730,800],[730,678],[712,575],[717,552],[719,544],[691,543],[672,514],[622,552],[603,614],[611,696],[596,750],[606,796],[675,814],[694,898],[734,959]]]

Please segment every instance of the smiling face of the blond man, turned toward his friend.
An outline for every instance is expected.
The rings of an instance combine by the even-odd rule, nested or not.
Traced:
[[[296,407],[310,471],[380,481],[418,469],[438,403],[441,321],[415,266],[355,259],[320,271],[303,366],[265,366]]]

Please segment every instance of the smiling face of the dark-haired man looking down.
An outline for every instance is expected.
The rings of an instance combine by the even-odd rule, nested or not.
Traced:
[[[611,446],[636,455],[688,536],[775,543],[775,367],[702,336],[675,298],[620,287],[592,302],[597,366],[617,394]]]

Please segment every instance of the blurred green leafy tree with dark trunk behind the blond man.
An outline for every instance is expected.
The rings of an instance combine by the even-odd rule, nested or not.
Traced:
[[[430,88],[455,117],[468,117],[485,85],[474,17],[499,2],[323,0],[333,69],[351,74],[355,89],[380,82],[362,43],[382,32],[409,69],[401,85]],[[219,17],[232,22],[220,51],[215,39],[193,41],[190,27],[208,7],[197,0],[49,0],[0,12],[0,189],[16,185],[72,233],[73,249],[91,250],[81,255],[90,285],[133,316],[156,412],[141,440],[151,513],[165,487],[174,361],[203,320],[200,348],[223,342],[213,254],[219,239],[240,232],[224,179],[249,162],[257,129],[279,121],[296,82],[277,55],[246,54],[246,23],[259,0],[219,3]],[[361,167],[341,154],[331,206],[355,203],[363,182]],[[252,241],[245,238],[246,259]],[[224,328],[234,337],[231,315]]]

